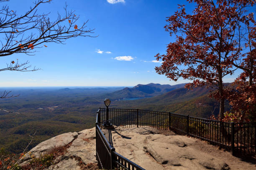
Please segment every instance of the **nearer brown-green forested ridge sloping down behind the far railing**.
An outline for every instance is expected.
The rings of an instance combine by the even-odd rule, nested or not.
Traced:
[[[225,86],[229,85],[231,84],[225,83]],[[188,90],[184,88],[184,84],[175,85],[175,87],[179,86],[181,88],[154,97],[139,100],[113,101],[112,107],[121,106],[120,108],[157,110],[203,118],[209,118],[212,114],[218,115],[219,102],[208,96],[213,89],[196,87],[193,90]],[[225,102],[225,110],[230,110],[230,105],[227,101]]]

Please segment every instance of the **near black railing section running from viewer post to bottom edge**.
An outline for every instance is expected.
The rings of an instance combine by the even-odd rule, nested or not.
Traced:
[[[136,163],[123,157],[122,155],[115,152],[115,148],[110,145],[105,135],[100,129],[100,109],[96,116],[96,160],[98,166],[101,169],[113,170],[113,169],[123,169],[123,170],[145,170],[141,168]]]

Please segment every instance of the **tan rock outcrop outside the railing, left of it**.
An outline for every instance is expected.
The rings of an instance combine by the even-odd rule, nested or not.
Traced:
[[[20,165],[28,164],[31,155],[38,158],[40,155],[44,155],[44,153],[49,152],[53,148],[67,146],[67,152],[56,158],[55,165],[51,165],[49,169],[80,170],[81,165],[97,163],[95,157],[95,136],[95,128],[82,130],[79,133],[74,132],[58,135],[39,143],[36,147],[31,149],[20,160]]]

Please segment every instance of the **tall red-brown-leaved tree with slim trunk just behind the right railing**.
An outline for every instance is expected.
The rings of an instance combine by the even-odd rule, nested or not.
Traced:
[[[166,55],[156,55],[157,60],[163,61],[156,72],[174,81],[180,77],[193,80],[187,88],[215,88],[222,120],[227,98],[223,77],[238,69],[234,63],[239,63],[247,52],[239,31],[246,7],[255,0],[188,1],[196,4],[192,15],[186,13],[184,5],[179,5],[181,10],[166,20],[169,24],[164,28],[177,40],[167,46]]]

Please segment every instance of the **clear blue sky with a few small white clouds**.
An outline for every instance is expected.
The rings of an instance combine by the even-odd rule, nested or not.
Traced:
[[[6,4],[17,13],[25,13],[33,1],[10,0]],[[0,72],[0,87],[11,86],[134,86],[150,82],[178,84],[158,75],[160,65],[154,55],[164,54],[166,45],[174,41],[165,32],[166,17],[174,14],[177,4],[194,7],[185,0],[67,0],[69,10],[80,16],[77,25],[89,20],[95,36],[75,37],[65,45],[48,43],[34,56],[15,54],[0,57],[0,67],[19,59],[41,68],[36,72]],[[53,0],[38,7],[52,20],[63,13],[65,1]],[[232,82],[226,77],[225,82]]]

